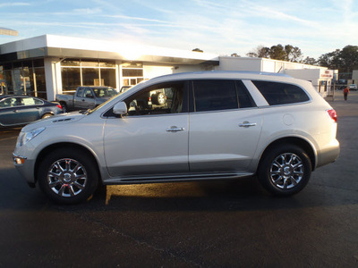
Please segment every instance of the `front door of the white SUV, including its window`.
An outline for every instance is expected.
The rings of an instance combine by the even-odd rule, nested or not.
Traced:
[[[153,178],[189,172],[185,85],[186,82],[173,82],[144,88],[125,100],[126,116],[108,117],[104,145],[111,176]],[[150,90],[157,89],[165,89],[165,104],[143,102]]]

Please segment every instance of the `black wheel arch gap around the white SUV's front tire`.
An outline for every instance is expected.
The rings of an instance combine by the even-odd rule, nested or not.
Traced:
[[[94,161],[94,163],[96,164],[96,170],[98,172],[98,178],[100,179],[98,181],[98,183],[101,183],[101,172],[99,170],[99,163],[98,163],[98,159],[97,157],[93,154],[93,152],[90,151],[89,148],[87,147],[83,147],[79,144],[76,143],[71,143],[71,142],[60,142],[60,143],[55,143],[52,145],[49,145],[48,147],[44,147],[38,154],[38,157],[36,158],[36,163],[35,163],[35,169],[34,169],[34,178],[35,178],[35,183],[37,183],[38,181],[38,167],[39,164],[41,163],[41,161],[48,155],[50,154],[52,151],[56,150],[57,148],[64,148],[64,147],[68,147],[69,150],[79,150],[81,151],[83,154],[90,156],[90,158]]]

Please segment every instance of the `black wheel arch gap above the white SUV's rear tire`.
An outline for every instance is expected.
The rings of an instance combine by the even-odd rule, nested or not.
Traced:
[[[261,163],[262,159],[264,158],[264,156],[273,147],[277,147],[278,145],[284,144],[284,143],[293,144],[295,146],[301,147],[306,152],[306,154],[310,157],[312,171],[314,171],[315,166],[316,166],[316,155],[314,153],[314,148],[307,140],[305,140],[304,138],[298,138],[298,137],[278,138],[277,140],[271,142],[268,145],[268,147],[266,147],[266,149],[263,151],[262,155],[260,156],[260,163]],[[259,166],[260,166],[260,163],[259,163]]]

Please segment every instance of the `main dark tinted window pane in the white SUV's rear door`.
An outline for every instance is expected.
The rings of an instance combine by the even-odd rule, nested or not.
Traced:
[[[237,109],[234,80],[194,80],[196,112]]]

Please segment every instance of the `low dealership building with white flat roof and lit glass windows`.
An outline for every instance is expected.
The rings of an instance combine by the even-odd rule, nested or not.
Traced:
[[[310,80],[322,96],[330,95],[337,78],[337,71],[302,63],[97,39],[44,35],[0,45],[0,94],[48,100],[78,86],[110,86],[119,90],[159,75],[214,70],[286,73]]]

